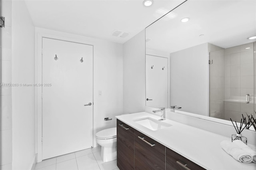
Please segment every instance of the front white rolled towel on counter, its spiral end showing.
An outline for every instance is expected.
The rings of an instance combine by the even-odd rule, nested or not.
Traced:
[[[234,142],[238,141],[238,142]],[[224,149],[228,154],[230,154],[235,160],[239,162],[250,163],[252,162],[252,156],[246,150],[243,150],[237,143],[242,142],[241,140],[234,140],[233,142],[229,140],[224,140],[220,143],[222,149]],[[243,143],[243,142],[242,142]],[[246,145],[246,144],[245,144]]]

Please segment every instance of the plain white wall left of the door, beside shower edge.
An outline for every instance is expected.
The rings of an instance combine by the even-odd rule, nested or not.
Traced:
[[[12,83],[34,83],[35,29],[24,1],[12,1]],[[35,158],[35,89],[12,88],[12,169]]]

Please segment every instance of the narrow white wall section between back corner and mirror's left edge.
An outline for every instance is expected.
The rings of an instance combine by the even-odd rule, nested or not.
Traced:
[[[123,44],[124,113],[145,110],[145,30]]]

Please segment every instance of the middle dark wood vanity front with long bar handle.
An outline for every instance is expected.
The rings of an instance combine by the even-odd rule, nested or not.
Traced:
[[[164,170],[165,146],[134,130],[134,167],[136,170]]]

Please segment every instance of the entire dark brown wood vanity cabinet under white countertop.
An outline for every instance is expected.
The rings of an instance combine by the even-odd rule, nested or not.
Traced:
[[[120,170],[204,170],[118,119],[117,166]]]

